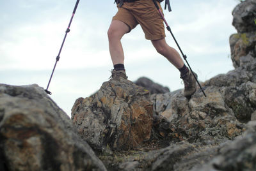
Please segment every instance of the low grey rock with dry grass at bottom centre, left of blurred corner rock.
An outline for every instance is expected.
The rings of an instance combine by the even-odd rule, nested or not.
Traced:
[[[132,151],[125,156],[117,154],[115,158],[109,159],[108,156],[102,155],[100,158],[109,170],[129,170],[125,166],[130,165],[131,170],[137,171],[185,171],[211,161],[218,154],[218,150],[217,146],[178,142],[155,151]]]

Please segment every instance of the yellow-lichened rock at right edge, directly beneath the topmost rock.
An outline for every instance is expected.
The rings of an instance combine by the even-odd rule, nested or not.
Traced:
[[[256,25],[255,25],[256,26]],[[241,66],[240,58],[256,56],[256,31],[232,34],[229,39],[231,59],[235,68]]]

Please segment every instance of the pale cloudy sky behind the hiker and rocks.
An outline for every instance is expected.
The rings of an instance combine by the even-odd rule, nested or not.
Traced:
[[[239,1],[170,3],[173,11],[164,10],[164,15],[198,79],[234,70],[228,40],[236,33],[232,10]],[[0,1],[0,83],[46,89],[75,4],[76,0]],[[95,93],[111,75],[107,31],[116,11],[113,1],[79,2],[49,87],[51,98],[68,115],[77,98]],[[166,41],[177,49],[168,31]],[[184,86],[179,71],[157,54],[140,26],[122,43],[129,80],[148,77],[171,91]]]

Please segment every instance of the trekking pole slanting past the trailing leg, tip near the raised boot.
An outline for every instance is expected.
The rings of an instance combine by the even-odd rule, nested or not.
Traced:
[[[166,20],[164,19],[164,15],[163,15],[162,11],[160,10],[158,4],[156,3],[156,0],[152,0],[152,1],[154,2],[155,6],[156,6],[156,8],[157,8],[157,11],[158,11],[159,14],[161,15],[162,19],[164,20],[164,23],[165,23],[165,25],[166,25],[166,29],[167,29],[168,31],[170,31],[170,33],[172,34],[173,40],[175,41],[177,47],[179,48],[180,53],[182,54],[182,57],[184,58],[184,60],[185,60],[186,63],[188,64],[188,67],[189,67],[189,69],[191,70],[191,73],[193,73],[193,76],[195,77],[197,84],[199,85],[200,89],[201,89],[202,92],[204,93],[204,89],[201,87],[200,83],[198,82],[198,80],[197,80],[197,78],[196,78],[196,76],[195,76],[195,73],[192,71],[192,69],[191,69],[191,67],[190,67],[190,65],[189,65],[189,63],[188,63],[188,61],[187,61],[187,56],[183,54],[183,52],[182,52],[182,50],[181,50],[181,48],[180,48],[180,46],[179,46],[179,43],[178,43],[177,40],[175,39],[175,36],[173,35],[170,26],[168,25],[168,23],[167,23]],[[204,93],[204,96],[206,97],[206,94],[205,94],[205,93]]]

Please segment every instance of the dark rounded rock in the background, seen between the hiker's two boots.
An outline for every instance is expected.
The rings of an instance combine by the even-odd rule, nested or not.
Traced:
[[[134,84],[139,85],[141,87],[145,87],[151,94],[170,92],[170,89],[168,87],[163,87],[162,85],[157,84],[146,77],[139,78],[134,82]]]

